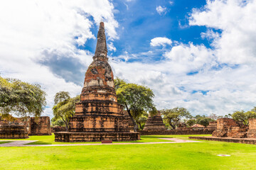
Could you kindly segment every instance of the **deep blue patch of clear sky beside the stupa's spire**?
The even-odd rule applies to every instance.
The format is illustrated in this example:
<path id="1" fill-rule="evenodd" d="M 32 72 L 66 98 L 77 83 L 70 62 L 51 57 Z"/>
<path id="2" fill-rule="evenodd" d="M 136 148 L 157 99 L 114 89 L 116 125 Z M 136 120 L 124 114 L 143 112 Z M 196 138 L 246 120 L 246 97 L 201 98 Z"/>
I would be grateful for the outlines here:
<path id="1" fill-rule="evenodd" d="M 156 37 L 166 37 L 183 43 L 193 42 L 195 45 L 203 43 L 210 47 L 208 40 L 201 38 L 201 33 L 206 31 L 205 26 L 188 26 L 192 8 L 202 8 L 206 1 L 113 1 L 113 4 L 117 10 L 114 18 L 119 23 L 119 39 L 113 42 L 117 50 L 109 52 L 113 57 L 124 52 L 148 51 L 151 48 L 150 40 Z M 156 6 L 163 6 L 166 11 L 159 14 Z M 97 28 L 97 24 L 92 28 L 95 36 Z M 93 51 L 95 46 L 95 40 L 88 40 L 84 49 Z"/>

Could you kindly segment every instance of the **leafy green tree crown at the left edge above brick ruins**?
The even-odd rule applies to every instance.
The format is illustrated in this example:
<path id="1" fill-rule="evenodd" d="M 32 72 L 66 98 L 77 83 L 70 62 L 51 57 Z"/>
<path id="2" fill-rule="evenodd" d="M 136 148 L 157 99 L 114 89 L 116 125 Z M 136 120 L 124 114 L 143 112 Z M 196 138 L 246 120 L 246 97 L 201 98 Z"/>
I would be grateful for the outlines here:
<path id="1" fill-rule="evenodd" d="M 0 113 L 40 116 L 46 107 L 46 92 L 39 84 L 0 77 Z"/>

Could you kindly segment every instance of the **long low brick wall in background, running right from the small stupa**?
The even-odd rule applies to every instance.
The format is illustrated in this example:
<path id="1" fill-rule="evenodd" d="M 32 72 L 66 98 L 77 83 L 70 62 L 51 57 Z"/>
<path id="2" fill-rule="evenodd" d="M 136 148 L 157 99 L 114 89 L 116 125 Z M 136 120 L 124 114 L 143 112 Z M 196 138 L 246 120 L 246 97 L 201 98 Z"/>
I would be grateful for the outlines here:
<path id="1" fill-rule="evenodd" d="M 159 130 L 159 131 L 146 131 L 140 130 L 141 135 L 206 135 L 212 134 L 213 130 Z"/>

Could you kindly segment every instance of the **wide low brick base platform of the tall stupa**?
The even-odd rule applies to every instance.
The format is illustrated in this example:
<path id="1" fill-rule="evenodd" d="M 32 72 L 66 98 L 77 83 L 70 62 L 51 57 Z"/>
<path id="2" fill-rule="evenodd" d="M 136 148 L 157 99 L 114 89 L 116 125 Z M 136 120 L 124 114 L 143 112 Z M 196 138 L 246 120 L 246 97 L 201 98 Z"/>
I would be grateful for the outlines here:
<path id="1" fill-rule="evenodd" d="M 55 132 L 55 142 L 101 142 L 140 140 L 139 132 Z"/>

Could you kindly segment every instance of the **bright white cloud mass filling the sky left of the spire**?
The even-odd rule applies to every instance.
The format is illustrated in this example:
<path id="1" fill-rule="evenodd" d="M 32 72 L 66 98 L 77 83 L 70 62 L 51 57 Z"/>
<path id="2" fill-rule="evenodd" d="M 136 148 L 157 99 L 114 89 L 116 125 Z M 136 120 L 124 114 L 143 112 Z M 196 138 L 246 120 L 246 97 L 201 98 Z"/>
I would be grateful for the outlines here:
<path id="1" fill-rule="evenodd" d="M 65 58 L 77 60 L 85 72 L 92 62 L 92 54 L 79 50 L 88 39 L 95 39 L 91 28 L 105 22 L 109 40 L 118 38 L 114 20 L 114 6 L 110 1 L 4 1 L 0 6 L 0 73 L 41 84 L 47 92 L 48 108 L 43 113 L 51 115 L 53 96 L 58 91 L 80 94 L 82 84 L 74 84 L 60 75 L 72 77 L 73 72 L 61 68 L 61 74 L 51 72 L 50 67 L 39 64 L 50 55 L 56 61 Z M 90 21 L 89 18 L 93 18 Z M 46 53 L 48 52 L 48 53 Z M 48 54 L 49 56 L 46 56 Z M 66 67 L 69 67 L 68 64 Z M 60 66 L 59 66 L 60 67 Z"/>

